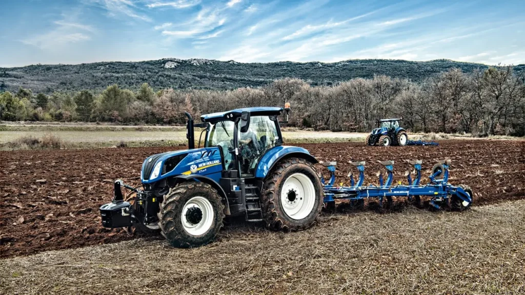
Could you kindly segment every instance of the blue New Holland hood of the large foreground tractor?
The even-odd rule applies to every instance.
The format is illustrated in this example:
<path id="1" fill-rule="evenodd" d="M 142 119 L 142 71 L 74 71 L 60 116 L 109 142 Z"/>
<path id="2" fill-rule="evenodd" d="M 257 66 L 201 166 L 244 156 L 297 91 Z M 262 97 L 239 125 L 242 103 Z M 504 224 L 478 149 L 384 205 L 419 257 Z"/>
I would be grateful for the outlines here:
<path id="1" fill-rule="evenodd" d="M 142 164 L 142 183 L 153 183 L 176 175 L 206 175 L 222 171 L 219 148 L 181 150 L 152 155 Z"/>

